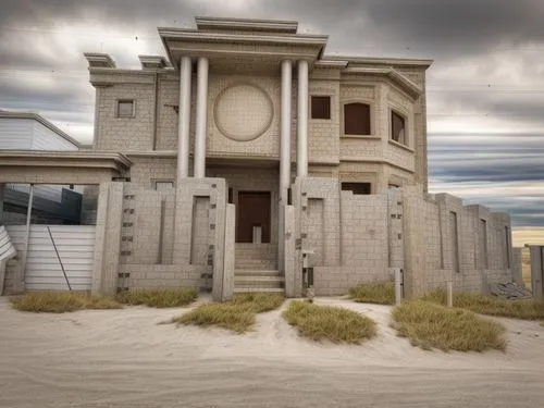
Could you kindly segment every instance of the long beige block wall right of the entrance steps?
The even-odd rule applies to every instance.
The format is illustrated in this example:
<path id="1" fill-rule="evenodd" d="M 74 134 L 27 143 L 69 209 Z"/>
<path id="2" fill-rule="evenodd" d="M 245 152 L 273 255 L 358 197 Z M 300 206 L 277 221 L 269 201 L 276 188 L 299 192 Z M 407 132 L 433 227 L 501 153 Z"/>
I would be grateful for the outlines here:
<path id="1" fill-rule="evenodd" d="M 518 260 L 511 252 L 507 214 L 465 207 L 447 194 L 426 195 L 421 187 L 359 196 L 341 191 L 331 178 L 306 178 L 297 180 L 294 194 L 300 213 L 295 274 L 300 271 L 300 276 L 289 283 L 292 293 L 304 292 L 301 252 L 308 249 L 314 252 L 308 264 L 318 295 L 390 281 L 395 268 L 404 270 L 408 297 L 445 288 L 449 281 L 458 292 L 486 293 L 490 284 L 512 279 Z M 475 243 L 481 242 L 483 220 L 485 248 L 480 248 Z M 482 254 L 489 263 L 482 263 Z"/>

